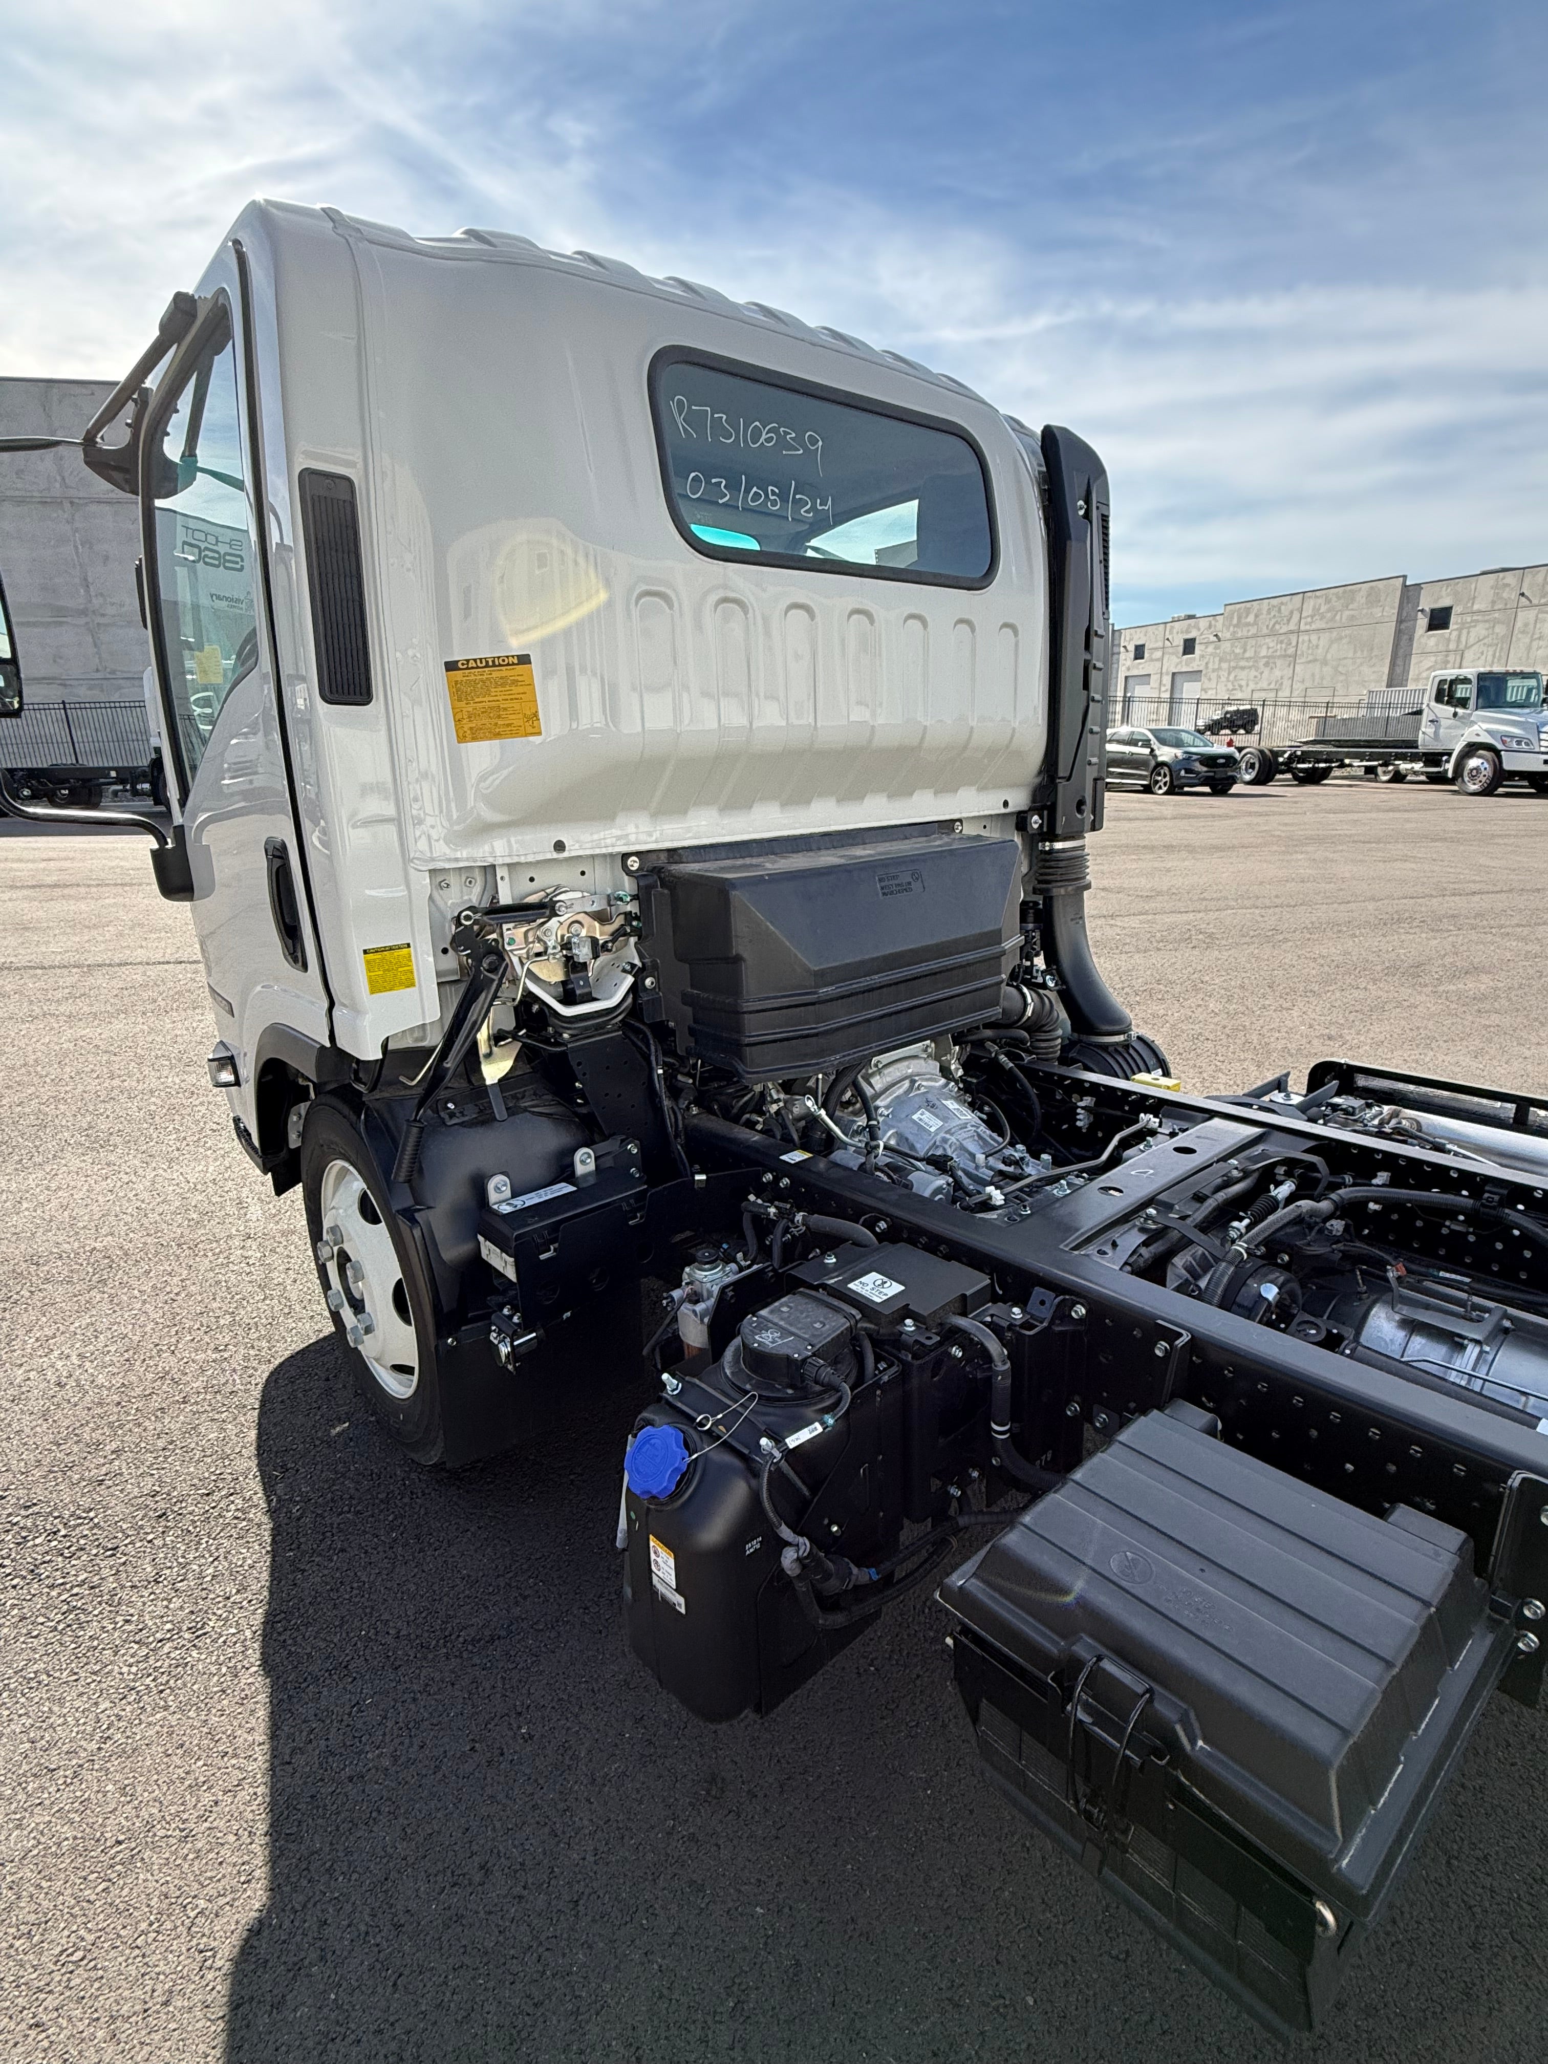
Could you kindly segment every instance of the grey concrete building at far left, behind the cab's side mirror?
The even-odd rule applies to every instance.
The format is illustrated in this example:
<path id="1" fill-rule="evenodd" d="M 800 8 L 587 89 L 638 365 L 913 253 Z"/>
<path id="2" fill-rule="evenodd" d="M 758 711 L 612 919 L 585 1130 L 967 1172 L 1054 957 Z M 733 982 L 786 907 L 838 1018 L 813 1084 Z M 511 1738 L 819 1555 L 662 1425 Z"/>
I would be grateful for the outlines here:
<path id="1" fill-rule="evenodd" d="M 0 378 L 0 436 L 78 438 L 109 380 Z M 80 452 L 0 452 L 0 584 L 29 704 L 142 702 L 147 667 L 130 495 Z"/>

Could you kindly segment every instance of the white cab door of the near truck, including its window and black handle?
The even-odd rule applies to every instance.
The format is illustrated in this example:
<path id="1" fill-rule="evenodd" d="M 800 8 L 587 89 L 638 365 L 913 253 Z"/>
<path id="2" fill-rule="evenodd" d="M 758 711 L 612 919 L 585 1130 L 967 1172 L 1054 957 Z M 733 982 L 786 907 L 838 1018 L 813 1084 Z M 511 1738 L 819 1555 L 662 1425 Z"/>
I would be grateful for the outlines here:
<path id="1" fill-rule="evenodd" d="M 192 916 L 217 1026 L 254 1123 L 256 1042 L 283 1024 L 328 1038 L 291 809 L 252 483 L 235 268 L 155 392 L 140 460 L 151 648 Z"/>

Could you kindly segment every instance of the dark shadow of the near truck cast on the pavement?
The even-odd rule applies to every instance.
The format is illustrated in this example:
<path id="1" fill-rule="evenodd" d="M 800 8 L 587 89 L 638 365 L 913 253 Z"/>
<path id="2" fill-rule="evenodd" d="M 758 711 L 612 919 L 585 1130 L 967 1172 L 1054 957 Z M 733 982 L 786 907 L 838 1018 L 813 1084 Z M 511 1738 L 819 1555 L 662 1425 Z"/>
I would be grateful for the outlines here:
<path id="1" fill-rule="evenodd" d="M 1282 2058 L 980 1781 L 929 1598 L 766 1721 L 646 1678 L 611 1546 L 642 1397 L 578 1377 L 524 1451 L 436 1476 L 332 1337 L 268 1377 L 268 1905 L 231 2064 Z M 1496 1701 L 1302 2056 L 1540 2054 L 1546 1856 L 1542 1723 Z"/>

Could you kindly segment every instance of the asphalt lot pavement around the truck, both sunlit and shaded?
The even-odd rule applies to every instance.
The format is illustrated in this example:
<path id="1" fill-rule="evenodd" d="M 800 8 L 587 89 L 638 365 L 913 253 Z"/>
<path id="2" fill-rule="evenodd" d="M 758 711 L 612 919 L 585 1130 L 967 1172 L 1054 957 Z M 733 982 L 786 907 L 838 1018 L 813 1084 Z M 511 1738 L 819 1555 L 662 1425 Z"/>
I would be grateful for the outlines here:
<path id="1" fill-rule="evenodd" d="M 1191 1088 L 1548 1090 L 1548 803 L 1115 797 L 1108 980 Z M 144 846 L 0 842 L 0 2054 L 1269 2060 L 978 1777 L 914 1598 L 766 1721 L 627 1651 L 634 1397 L 390 1451 L 204 1077 Z M 1480 1726 L 1304 2058 L 1538 2058 L 1544 1717 Z"/>

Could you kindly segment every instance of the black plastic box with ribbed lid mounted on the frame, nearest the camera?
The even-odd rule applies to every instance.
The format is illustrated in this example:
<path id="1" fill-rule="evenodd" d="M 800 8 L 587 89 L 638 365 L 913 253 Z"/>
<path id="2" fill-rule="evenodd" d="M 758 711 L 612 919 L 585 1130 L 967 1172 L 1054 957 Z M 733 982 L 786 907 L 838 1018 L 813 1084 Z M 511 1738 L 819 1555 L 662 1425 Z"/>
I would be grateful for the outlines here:
<path id="1" fill-rule="evenodd" d="M 1311 2029 L 1511 1657 L 1472 1542 L 1150 1412 L 941 1587 L 989 1775 Z"/>

